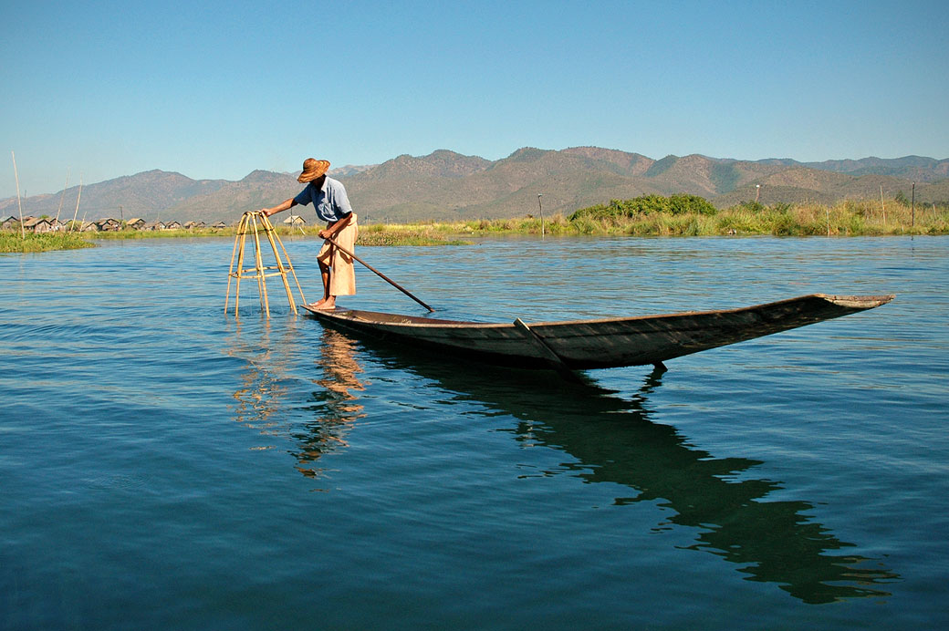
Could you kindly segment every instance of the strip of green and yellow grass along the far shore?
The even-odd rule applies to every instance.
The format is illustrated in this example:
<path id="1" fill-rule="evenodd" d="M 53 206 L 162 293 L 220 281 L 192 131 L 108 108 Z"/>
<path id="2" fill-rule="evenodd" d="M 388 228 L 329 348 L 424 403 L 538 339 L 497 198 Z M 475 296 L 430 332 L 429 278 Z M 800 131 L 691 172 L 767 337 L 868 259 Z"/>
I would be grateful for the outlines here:
<path id="1" fill-rule="evenodd" d="M 628 203 L 615 200 L 609 205 L 581 209 L 569 217 L 555 214 L 545 218 L 544 232 L 550 235 L 590 236 L 886 236 L 908 234 L 949 234 L 949 207 L 918 206 L 913 210 L 897 200 L 883 205 L 875 201 L 844 201 L 833 206 L 823 204 L 773 204 L 764 206 L 746 202 L 710 213 L 696 211 L 646 210 L 631 212 Z M 316 236 L 320 226 L 300 229 L 276 227 L 281 238 L 294 235 Z M 541 220 L 527 216 L 519 219 L 481 219 L 455 223 L 368 224 L 360 226 L 360 246 L 435 246 L 465 245 L 464 236 L 500 234 L 540 234 Z M 0 252 L 69 250 L 88 248 L 88 239 L 152 239 L 219 236 L 233 237 L 236 228 L 176 231 L 76 232 L 28 234 L 0 232 Z"/>

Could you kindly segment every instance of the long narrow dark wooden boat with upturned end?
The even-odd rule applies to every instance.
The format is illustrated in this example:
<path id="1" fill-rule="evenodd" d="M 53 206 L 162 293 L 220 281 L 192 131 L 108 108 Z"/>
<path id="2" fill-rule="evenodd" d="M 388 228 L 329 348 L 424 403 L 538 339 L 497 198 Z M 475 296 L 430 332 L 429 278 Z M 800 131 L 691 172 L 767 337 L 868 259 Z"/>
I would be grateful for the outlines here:
<path id="1" fill-rule="evenodd" d="M 655 364 L 884 305 L 892 295 L 800 296 L 765 305 L 633 318 L 482 324 L 419 316 L 313 309 L 327 325 L 383 340 L 523 368 L 560 371 Z"/>

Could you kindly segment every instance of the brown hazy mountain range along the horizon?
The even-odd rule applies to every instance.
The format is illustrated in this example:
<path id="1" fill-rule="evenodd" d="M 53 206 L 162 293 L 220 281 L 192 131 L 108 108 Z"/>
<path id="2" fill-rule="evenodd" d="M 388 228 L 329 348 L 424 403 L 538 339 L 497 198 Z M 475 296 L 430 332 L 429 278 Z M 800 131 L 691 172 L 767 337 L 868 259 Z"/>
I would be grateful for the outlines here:
<path id="1" fill-rule="evenodd" d="M 916 182 L 921 203 L 949 200 L 949 159 L 863 158 L 798 162 L 790 158 L 738 160 L 706 156 L 647 158 L 600 147 L 518 149 L 488 160 L 438 150 L 377 165 L 334 169 L 353 208 L 366 222 L 452 221 L 573 211 L 638 195 L 686 193 L 720 208 L 758 195 L 764 204 L 879 198 Z M 97 184 L 70 187 L 23 200 L 24 214 L 61 219 L 141 217 L 179 221 L 235 222 L 255 210 L 296 195 L 296 174 L 253 171 L 238 181 L 195 180 L 179 173 L 147 171 Z M 538 195 L 542 195 L 538 197 Z M 76 212 L 77 196 L 79 211 Z M 0 216 L 17 213 L 16 198 L 0 200 Z M 312 209 L 301 214 L 310 221 Z"/>

